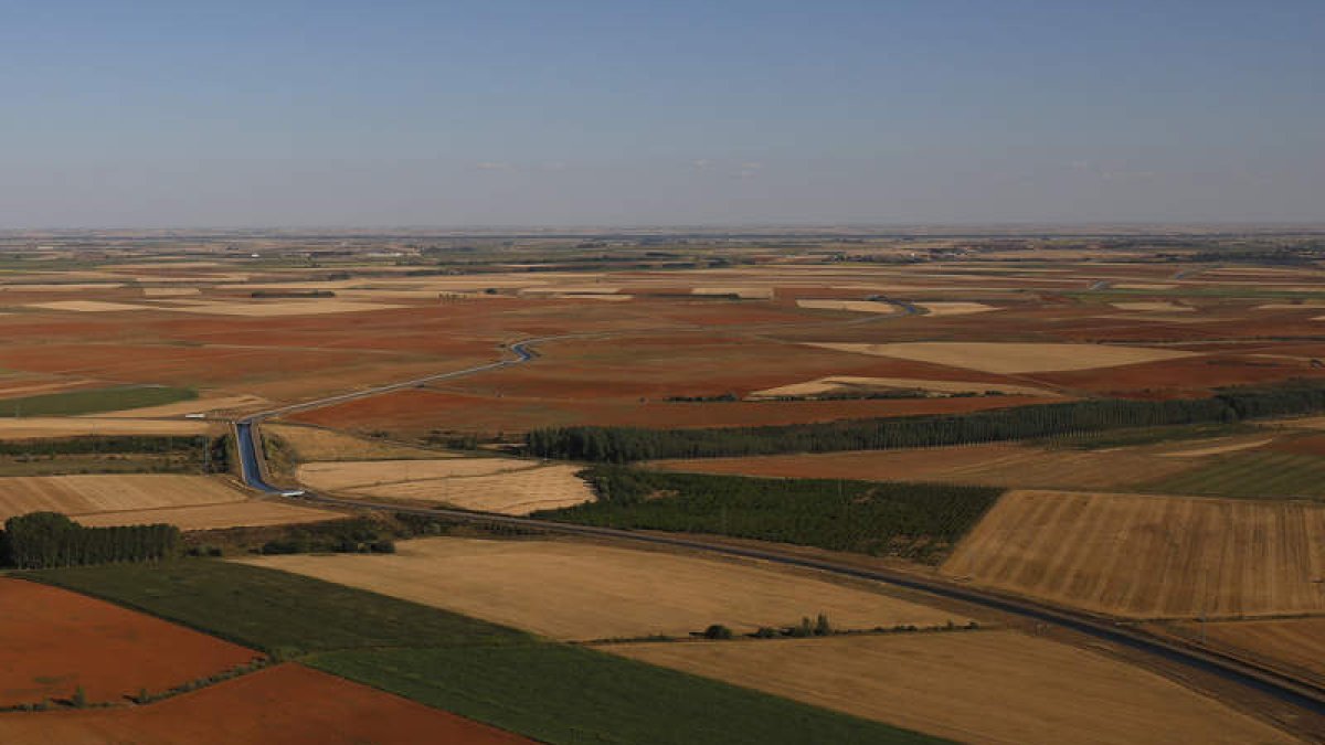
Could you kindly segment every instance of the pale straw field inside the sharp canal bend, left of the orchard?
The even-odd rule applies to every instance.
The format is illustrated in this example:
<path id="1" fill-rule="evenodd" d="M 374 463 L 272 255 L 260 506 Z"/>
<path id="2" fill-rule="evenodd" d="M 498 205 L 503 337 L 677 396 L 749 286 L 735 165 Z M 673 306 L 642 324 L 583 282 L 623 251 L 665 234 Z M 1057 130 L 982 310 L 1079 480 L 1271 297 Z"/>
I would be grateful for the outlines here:
<path id="1" fill-rule="evenodd" d="M 578 465 L 504 457 L 310 463 L 295 477 L 315 490 L 529 514 L 594 500 Z"/>

